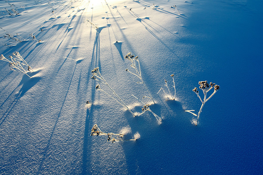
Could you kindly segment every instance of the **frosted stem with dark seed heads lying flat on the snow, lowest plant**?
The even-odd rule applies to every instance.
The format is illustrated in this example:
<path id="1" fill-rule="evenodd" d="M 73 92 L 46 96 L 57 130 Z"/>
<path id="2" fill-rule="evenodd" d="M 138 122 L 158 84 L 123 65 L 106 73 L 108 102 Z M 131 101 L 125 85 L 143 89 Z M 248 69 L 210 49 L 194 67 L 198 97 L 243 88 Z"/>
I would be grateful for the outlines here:
<path id="1" fill-rule="evenodd" d="M 99 129 L 98 125 L 95 124 L 93 125 L 92 129 L 91 129 L 91 133 L 90 133 L 91 136 L 103 136 L 103 135 L 107 135 L 107 141 L 111 141 L 112 143 L 116 142 L 116 141 L 128 141 L 128 140 L 136 140 L 136 139 L 127 139 L 127 140 L 124 140 L 122 139 L 124 134 L 120 133 L 120 134 L 114 134 L 112 132 L 110 133 L 105 133 L 105 132 L 101 132 L 101 129 Z M 116 139 L 113 137 L 113 136 L 117 136 Z"/>

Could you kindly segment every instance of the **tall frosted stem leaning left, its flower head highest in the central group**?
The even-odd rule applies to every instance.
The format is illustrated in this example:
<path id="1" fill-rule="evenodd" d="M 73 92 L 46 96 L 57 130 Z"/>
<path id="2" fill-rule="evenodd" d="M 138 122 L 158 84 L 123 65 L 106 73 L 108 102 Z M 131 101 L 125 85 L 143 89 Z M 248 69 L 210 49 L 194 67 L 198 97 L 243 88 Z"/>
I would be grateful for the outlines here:
<path id="1" fill-rule="evenodd" d="M 143 96 L 144 97 L 148 97 L 150 99 L 153 100 L 153 97 L 150 93 L 150 91 L 148 90 L 148 88 L 146 87 L 146 84 L 144 83 L 143 79 L 142 79 L 142 76 L 141 76 L 141 66 L 140 66 L 140 61 L 139 61 L 139 58 L 138 56 L 134 57 L 134 55 L 131 55 L 131 52 L 128 53 L 126 56 L 125 56 L 125 59 L 129 60 L 131 62 L 131 67 L 133 69 L 135 69 L 135 73 L 129 71 L 129 69 L 125 69 L 126 72 L 129 72 L 131 74 L 133 74 L 134 76 L 138 77 L 140 79 L 140 81 L 137 82 L 137 84 L 143 84 L 144 87 L 146 88 L 146 90 L 148 91 L 150 97 L 148 96 Z M 136 62 L 138 64 L 138 66 L 136 66 Z M 139 70 L 138 70 L 138 67 L 139 67 Z M 153 103 L 155 104 L 154 100 L 153 100 Z"/>

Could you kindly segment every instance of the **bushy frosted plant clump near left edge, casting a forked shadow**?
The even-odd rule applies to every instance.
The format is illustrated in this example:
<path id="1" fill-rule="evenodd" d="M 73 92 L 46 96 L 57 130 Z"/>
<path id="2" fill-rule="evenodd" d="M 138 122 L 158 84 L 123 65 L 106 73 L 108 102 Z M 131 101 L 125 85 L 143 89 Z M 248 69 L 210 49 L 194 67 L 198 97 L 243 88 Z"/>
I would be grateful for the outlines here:
<path id="1" fill-rule="evenodd" d="M 27 72 L 30 71 L 30 69 L 33 71 L 33 69 L 27 64 L 27 62 L 23 59 L 23 57 L 19 54 L 19 52 L 14 52 L 13 56 L 14 57 L 9 56 L 10 60 L 8 60 L 2 54 L 2 55 L 0 55 L 0 60 L 8 62 L 9 66 L 11 67 L 10 70 L 22 72 L 26 75 L 27 75 Z M 27 75 L 27 76 L 29 76 L 29 75 Z"/>

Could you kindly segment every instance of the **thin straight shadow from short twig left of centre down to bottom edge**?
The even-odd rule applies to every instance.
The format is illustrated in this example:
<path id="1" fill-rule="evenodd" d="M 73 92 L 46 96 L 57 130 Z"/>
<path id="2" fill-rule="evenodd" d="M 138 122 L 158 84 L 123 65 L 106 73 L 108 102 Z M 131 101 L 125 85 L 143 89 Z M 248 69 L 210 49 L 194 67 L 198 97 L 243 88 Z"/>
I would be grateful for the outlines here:
<path id="1" fill-rule="evenodd" d="M 49 146 L 50 146 L 50 143 L 51 143 L 53 134 L 54 134 L 54 132 L 55 132 L 55 129 L 56 129 L 56 127 L 57 127 L 58 119 L 59 119 L 59 117 L 60 117 L 60 115 L 61 115 L 63 106 L 64 106 L 64 104 L 65 104 L 65 101 L 66 101 L 66 98 L 67 98 L 67 95 L 68 95 L 68 92 L 69 92 L 69 89 L 70 89 L 70 85 L 71 85 L 71 82 L 72 82 L 72 79 L 73 79 L 73 76 L 74 76 L 76 67 L 77 67 L 77 64 L 76 64 L 76 66 L 75 66 L 75 68 L 74 68 L 74 71 L 73 71 L 73 73 L 72 73 L 72 77 L 71 77 L 71 79 L 70 79 L 70 83 L 69 83 L 69 86 L 68 86 L 68 90 L 67 90 L 67 92 L 66 92 L 66 94 L 65 94 L 65 98 L 64 98 L 64 100 L 63 100 L 63 102 L 62 102 L 61 108 L 60 108 L 60 110 L 59 110 L 59 112 L 58 112 L 58 115 L 57 115 L 57 117 L 56 117 L 56 122 L 55 122 L 55 124 L 54 124 L 53 129 L 52 129 L 51 132 L 50 132 L 49 139 L 48 139 L 47 144 L 46 144 L 46 148 L 43 148 L 43 152 L 42 152 L 42 157 L 43 157 L 43 158 L 41 159 L 41 162 L 40 162 L 40 164 L 39 164 L 39 166 L 38 166 L 38 170 L 37 170 L 37 173 L 36 173 L 36 174 L 40 174 L 40 173 L 42 172 L 42 168 L 43 168 L 42 166 L 43 166 L 44 160 L 46 159 L 46 156 L 48 155 Z"/>

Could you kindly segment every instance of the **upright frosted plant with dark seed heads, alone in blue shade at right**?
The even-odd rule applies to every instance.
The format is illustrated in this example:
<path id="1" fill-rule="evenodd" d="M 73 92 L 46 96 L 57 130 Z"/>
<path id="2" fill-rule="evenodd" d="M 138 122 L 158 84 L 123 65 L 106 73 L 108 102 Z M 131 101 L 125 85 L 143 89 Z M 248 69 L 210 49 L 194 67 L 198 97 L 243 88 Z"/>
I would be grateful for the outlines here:
<path id="1" fill-rule="evenodd" d="M 209 84 L 207 83 L 207 81 L 199 81 L 198 83 L 200 86 L 199 88 L 203 91 L 203 94 L 204 94 L 204 99 L 202 100 L 200 95 L 199 95 L 199 92 L 197 90 L 197 88 L 194 88 L 193 89 L 193 92 L 195 92 L 195 94 L 197 95 L 197 97 L 200 99 L 200 101 L 202 102 L 202 105 L 200 107 L 200 110 L 198 112 L 198 115 L 196 115 L 195 113 L 191 112 L 191 111 L 194 111 L 194 110 L 186 110 L 186 112 L 189 112 L 191 114 L 193 114 L 194 116 L 197 117 L 197 120 L 196 120 L 196 123 L 195 123 L 195 126 L 198 124 L 198 119 L 200 117 L 200 113 L 202 112 L 202 109 L 205 105 L 205 103 L 211 98 L 213 97 L 213 95 L 217 92 L 217 90 L 220 89 L 220 86 L 219 85 L 215 85 L 215 83 L 212 83 L 210 82 Z M 214 92 L 207 98 L 207 92 L 209 92 L 211 89 L 214 88 Z"/>

